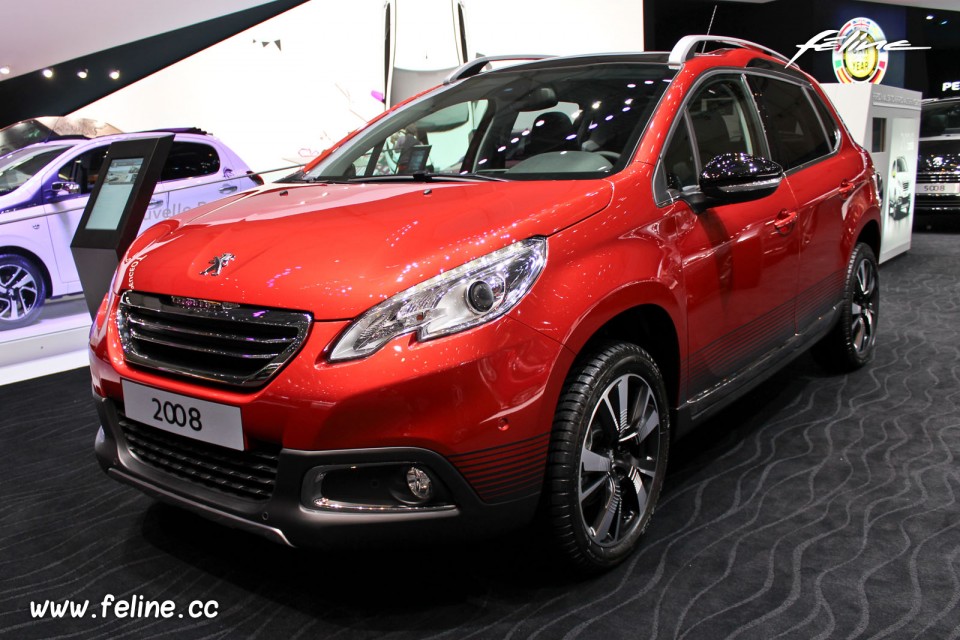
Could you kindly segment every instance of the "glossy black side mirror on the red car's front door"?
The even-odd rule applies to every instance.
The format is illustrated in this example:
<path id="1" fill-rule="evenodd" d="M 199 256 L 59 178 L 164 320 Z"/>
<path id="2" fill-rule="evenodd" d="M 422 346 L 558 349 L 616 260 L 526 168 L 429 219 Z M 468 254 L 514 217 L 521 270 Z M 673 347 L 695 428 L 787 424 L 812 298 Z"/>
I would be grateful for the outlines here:
<path id="1" fill-rule="evenodd" d="M 700 173 L 700 194 L 690 204 L 695 211 L 712 206 L 759 200 L 771 195 L 783 180 L 783 167 L 747 153 L 721 153 Z"/>

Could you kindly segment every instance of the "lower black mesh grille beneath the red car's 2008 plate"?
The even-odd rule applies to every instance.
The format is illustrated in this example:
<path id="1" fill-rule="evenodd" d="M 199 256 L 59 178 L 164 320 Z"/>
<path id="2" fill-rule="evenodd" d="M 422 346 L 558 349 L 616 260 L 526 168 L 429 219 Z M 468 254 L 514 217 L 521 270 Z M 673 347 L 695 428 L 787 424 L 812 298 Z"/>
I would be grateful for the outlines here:
<path id="1" fill-rule="evenodd" d="M 144 464 L 195 484 L 251 500 L 267 500 L 277 480 L 280 447 L 233 451 L 197 442 L 120 414 L 127 449 Z"/>

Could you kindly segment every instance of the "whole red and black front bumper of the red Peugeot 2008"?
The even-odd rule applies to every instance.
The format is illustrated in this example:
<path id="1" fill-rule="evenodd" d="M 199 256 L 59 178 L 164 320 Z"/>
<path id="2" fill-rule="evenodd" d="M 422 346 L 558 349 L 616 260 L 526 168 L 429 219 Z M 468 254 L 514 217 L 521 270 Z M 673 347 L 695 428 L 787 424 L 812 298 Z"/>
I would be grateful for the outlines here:
<path id="1" fill-rule="evenodd" d="M 427 530 L 486 535 L 532 518 L 573 356 L 524 323 L 506 316 L 424 343 L 405 336 L 367 358 L 331 364 L 324 350 L 344 323 L 314 322 L 275 378 L 238 390 L 131 366 L 108 321 L 116 313 L 111 298 L 94 323 L 90 366 L 102 425 L 97 456 L 115 479 L 295 546 L 356 545 Z M 189 473 L 178 467 L 176 446 L 170 455 L 161 452 L 161 464 L 151 460 L 155 451 L 135 450 L 137 438 L 159 436 L 147 425 L 130 433 L 124 380 L 239 408 L 247 452 L 268 449 L 276 467 L 270 491 L 238 496 L 208 486 L 202 465 Z M 230 455 L 218 449 L 210 456 Z M 450 508 L 335 510 L 314 508 L 301 495 L 317 467 L 386 463 L 428 467 L 449 493 Z"/>

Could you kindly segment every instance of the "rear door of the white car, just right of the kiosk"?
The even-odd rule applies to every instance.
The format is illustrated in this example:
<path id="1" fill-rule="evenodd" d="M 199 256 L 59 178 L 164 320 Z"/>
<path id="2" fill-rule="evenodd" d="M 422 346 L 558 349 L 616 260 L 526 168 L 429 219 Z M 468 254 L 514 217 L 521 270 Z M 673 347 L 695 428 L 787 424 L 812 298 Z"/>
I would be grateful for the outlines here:
<path id="1" fill-rule="evenodd" d="M 176 215 L 249 185 L 246 175 L 235 175 L 234 168 L 224 166 L 213 145 L 175 140 L 160 174 L 157 192 L 168 194 L 170 215 Z"/>

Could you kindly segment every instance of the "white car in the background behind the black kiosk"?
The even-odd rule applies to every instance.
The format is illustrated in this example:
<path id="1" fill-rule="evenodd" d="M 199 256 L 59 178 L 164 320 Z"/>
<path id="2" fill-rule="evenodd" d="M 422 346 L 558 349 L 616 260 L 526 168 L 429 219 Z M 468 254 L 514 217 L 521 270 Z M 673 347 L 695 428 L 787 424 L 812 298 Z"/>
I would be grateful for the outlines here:
<path id="1" fill-rule="evenodd" d="M 140 231 L 263 184 L 223 142 L 171 129 L 173 146 Z M 70 243 L 111 143 L 156 135 L 61 139 L 0 157 L 0 330 L 30 324 L 47 299 L 80 293 Z"/>

